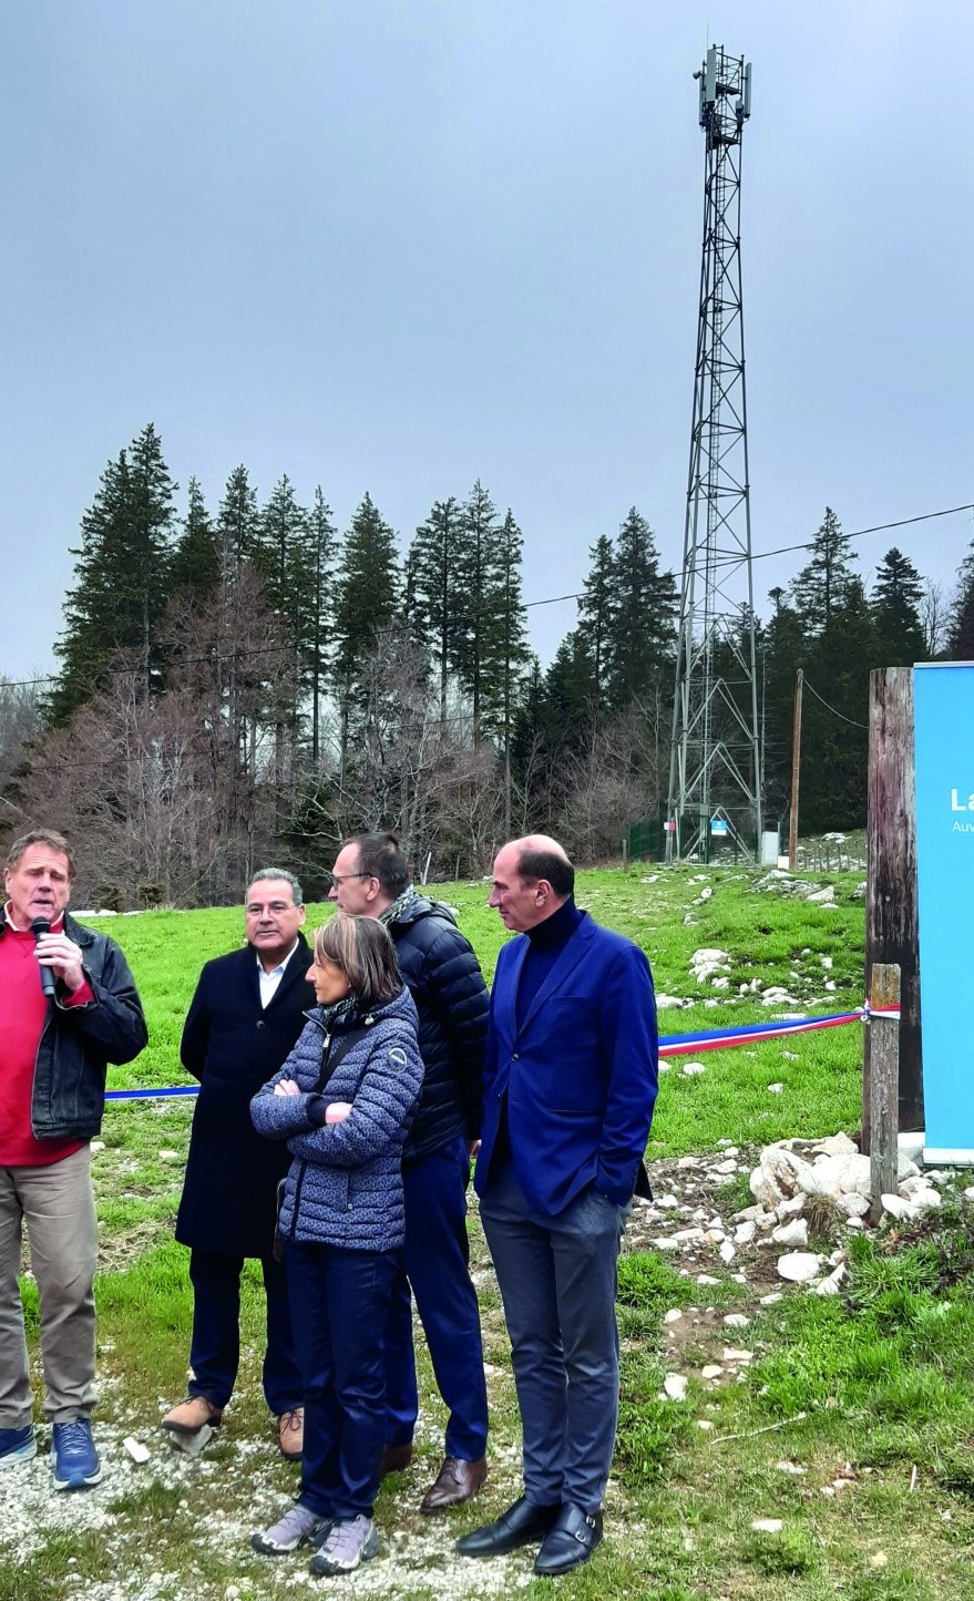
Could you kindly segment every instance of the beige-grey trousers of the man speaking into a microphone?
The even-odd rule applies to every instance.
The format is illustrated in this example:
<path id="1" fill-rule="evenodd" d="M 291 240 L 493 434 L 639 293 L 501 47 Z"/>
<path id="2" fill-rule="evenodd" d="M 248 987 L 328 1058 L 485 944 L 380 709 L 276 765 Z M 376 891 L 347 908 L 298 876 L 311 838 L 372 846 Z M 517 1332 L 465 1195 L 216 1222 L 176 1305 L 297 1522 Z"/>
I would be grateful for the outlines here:
<path id="1" fill-rule="evenodd" d="M 24 1222 L 40 1297 L 45 1412 L 67 1423 L 88 1417 L 96 1401 L 98 1226 L 87 1145 L 48 1167 L 0 1167 L 0 1428 L 24 1428 L 34 1406 L 18 1282 Z"/>

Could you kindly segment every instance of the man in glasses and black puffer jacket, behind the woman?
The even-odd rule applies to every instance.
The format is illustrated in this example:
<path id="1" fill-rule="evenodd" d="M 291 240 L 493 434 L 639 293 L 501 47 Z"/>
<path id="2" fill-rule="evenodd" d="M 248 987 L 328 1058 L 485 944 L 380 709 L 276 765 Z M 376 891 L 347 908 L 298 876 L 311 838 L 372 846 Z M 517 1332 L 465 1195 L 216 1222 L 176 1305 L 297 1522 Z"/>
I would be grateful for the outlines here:
<path id="1" fill-rule="evenodd" d="M 386 924 L 420 1013 L 426 1073 L 402 1158 L 405 1246 L 386 1327 L 383 1470 L 405 1468 L 412 1459 L 418 1412 L 412 1290 L 450 1414 L 444 1462 L 420 1507 L 441 1511 L 469 1500 L 487 1476 L 484 1348 L 466 1239 L 469 1158 L 481 1138 L 487 986 L 452 911 L 412 889 L 392 834 L 354 834 L 343 844 L 330 898 L 349 917 Z"/>

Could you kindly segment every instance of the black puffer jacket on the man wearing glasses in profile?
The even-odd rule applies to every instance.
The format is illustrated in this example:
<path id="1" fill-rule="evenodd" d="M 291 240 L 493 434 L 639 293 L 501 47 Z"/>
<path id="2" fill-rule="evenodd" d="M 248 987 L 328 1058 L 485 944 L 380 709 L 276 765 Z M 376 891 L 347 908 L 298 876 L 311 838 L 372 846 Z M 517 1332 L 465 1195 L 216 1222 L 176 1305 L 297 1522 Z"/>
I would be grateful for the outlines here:
<path id="1" fill-rule="evenodd" d="M 413 895 L 388 929 L 420 1013 L 420 1055 L 426 1068 L 404 1150 L 409 1164 L 439 1151 L 458 1134 L 481 1138 L 490 997 L 481 964 L 449 906 Z"/>

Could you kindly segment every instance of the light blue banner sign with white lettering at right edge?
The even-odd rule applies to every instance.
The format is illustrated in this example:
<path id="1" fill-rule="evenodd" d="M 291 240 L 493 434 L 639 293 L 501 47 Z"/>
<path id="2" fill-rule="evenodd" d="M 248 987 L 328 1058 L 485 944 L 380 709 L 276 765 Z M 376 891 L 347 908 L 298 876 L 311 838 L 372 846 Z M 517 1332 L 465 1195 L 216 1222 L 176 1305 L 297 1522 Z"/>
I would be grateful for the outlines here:
<path id="1" fill-rule="evenodd" d="M 928 1162 L 974 1164 L 964 1021 L 974 924 L 974 663 L 915 668 L 920 1015 Z"/>

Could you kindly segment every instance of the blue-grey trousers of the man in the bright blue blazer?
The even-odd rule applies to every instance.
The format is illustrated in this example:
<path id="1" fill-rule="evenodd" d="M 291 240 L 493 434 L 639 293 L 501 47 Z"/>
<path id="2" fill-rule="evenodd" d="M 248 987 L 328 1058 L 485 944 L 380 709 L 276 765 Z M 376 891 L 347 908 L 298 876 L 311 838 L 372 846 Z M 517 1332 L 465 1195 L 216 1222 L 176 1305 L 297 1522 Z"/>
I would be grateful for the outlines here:
<path id="1" fill-rule="evenodd" d="M 511 1338 L 524 1494 L 598 1511 L 618 1422 L 617 1262 L 628 1207 L 583 1191 L 532 1214 L 513 1166 L 481 1201 Z"/>

